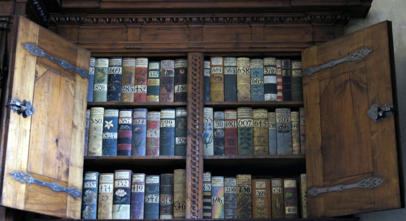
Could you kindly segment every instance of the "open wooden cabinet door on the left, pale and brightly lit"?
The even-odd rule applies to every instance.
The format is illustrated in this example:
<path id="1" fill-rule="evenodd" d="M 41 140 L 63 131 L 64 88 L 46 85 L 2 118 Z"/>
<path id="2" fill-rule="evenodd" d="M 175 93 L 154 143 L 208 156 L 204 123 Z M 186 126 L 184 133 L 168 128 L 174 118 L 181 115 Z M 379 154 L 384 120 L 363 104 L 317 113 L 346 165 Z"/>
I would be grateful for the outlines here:
<path id="1" fill-rule="evenodd" d="M 6 113 L 1 205 L 80 218 L 90 52 L 24 17 L 16 21 L 8 99 L 30 101 L 35 112 Z M 31 54 L 26 47 L 33 46 L 25 43 L 65 67 L 84 68 L 84 78 L 49 56 Z"/>

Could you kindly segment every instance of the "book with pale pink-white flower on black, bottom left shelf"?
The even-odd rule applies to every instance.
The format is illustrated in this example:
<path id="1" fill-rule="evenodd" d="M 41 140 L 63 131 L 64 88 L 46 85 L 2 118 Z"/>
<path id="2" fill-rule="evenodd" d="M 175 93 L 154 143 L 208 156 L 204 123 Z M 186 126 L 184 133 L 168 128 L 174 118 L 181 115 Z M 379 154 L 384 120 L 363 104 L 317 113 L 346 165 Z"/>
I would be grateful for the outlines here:
<path id="1" fill-rule="evenodd" d="M 131 170 L 114 170 L 113 219 L 130 219 L 131 177 Z"/>

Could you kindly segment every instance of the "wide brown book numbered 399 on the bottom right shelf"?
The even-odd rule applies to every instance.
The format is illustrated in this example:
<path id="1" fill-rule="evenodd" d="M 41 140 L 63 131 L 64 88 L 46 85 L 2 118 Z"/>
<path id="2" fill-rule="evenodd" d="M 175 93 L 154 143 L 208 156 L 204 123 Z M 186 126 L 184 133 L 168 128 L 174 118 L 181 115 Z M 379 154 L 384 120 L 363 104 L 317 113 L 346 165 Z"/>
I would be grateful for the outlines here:
<path id="1" fill-rule="evenodd" d="M 271 187 L 268 179 L 252 180 L 253 219 L 271 218 Z"/>

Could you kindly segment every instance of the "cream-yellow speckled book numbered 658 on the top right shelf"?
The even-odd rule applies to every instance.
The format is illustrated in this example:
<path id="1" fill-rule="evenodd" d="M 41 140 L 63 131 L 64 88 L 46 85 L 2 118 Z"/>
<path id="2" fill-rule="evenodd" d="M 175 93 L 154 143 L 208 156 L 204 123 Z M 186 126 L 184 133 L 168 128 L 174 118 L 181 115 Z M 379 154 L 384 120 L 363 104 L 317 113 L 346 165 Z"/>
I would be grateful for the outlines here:
<path id="1" fill-rule="evenodd" d="M 237 101 L 251 101 L 250 58 L 237 58 Z"/>

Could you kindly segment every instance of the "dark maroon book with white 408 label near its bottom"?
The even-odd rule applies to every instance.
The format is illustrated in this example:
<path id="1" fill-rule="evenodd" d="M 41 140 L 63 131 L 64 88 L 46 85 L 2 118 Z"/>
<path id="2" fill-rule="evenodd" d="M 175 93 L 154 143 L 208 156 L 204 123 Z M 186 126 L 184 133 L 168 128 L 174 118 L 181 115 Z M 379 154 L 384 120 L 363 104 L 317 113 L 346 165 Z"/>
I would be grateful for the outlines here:
<path id="1" fill-rule="evenodd" d="M 285 199 L 285 218 L 299 218 L 296 179 L 283 179 L 283 193 Z"/>

